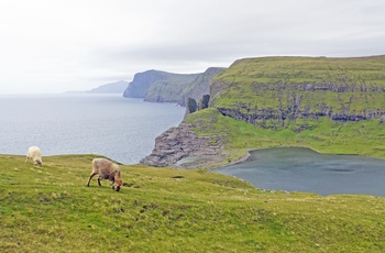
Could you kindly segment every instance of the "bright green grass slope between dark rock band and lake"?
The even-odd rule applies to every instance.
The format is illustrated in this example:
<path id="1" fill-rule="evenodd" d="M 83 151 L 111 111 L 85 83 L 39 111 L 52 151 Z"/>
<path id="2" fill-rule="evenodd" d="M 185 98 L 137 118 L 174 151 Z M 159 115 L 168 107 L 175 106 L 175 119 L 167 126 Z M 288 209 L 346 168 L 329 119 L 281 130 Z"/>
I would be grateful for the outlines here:
<path id="1" fill-rule="evenodd" d="M 223 117 L 216 108 L 209 108 L 189 114 L 187 121 L 193 123 L 196 134 L 211 136 L 212 142 L 221 142 L 224 146 L 223 163 L 217 165 L 241 158 L 246 150 L 276 146 L 302 146 L 321 153 L 385 158 L 385 125 L 376 120 L 343 123 L 320 118 L 268 129 Z M 297 132 L 302 125 L 307 130 Z"/>

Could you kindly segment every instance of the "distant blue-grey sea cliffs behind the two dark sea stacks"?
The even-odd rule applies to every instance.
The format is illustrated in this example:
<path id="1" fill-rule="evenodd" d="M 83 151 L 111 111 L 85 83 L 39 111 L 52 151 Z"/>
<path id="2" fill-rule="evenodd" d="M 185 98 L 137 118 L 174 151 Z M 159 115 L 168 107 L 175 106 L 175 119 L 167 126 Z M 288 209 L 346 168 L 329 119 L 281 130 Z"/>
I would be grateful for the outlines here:
<path id="1" fill-rule="evenodd" d="M 124 90 L 123 97 L 186 106 L 188 98 L 199 101 L 204 95 L 208 95 L 211 79 L 224 69 L 210 67 L 198 74 L 174 74 L 154 69 L 138 73 Z"/>

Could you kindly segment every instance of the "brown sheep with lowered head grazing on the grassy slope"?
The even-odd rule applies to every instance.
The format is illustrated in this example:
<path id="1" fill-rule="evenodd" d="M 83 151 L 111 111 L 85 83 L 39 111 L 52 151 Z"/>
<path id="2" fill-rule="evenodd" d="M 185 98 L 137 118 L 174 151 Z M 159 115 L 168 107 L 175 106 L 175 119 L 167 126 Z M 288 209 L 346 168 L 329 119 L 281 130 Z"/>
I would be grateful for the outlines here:
<path id="1" fill-rule="evenodd" d="M 98 177 L 98 184 L 100 184 L 100 179 L 109 179 L 112 182 L 112 189 L 116 189 L 117 191 L 120 190 L 120 187 L 123 185 L 120 168 L 118 164 L 112 163 L 111 161 L 105 160 L 105 158 L 95 158 L 92 160 L 92 172 L 91 175 L 89 175 L 88 184 L 91 180 L 91 178 L 99 174 Z"/>

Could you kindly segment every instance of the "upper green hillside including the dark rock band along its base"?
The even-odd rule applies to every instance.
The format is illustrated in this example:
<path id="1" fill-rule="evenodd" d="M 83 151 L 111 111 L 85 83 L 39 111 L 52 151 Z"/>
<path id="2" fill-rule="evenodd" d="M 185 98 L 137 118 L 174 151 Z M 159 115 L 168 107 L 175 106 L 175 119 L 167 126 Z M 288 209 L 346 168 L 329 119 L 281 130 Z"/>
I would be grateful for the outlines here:
<path id="1" fill-rule="evenodd" d="M 239 73 L 239 74 L 238 74 Z M 385 114 L 385 57 L 271 57 L 235 62 L 216 79 L 211 106 L 264 125 L 299 119 L 374 120 Z"/>

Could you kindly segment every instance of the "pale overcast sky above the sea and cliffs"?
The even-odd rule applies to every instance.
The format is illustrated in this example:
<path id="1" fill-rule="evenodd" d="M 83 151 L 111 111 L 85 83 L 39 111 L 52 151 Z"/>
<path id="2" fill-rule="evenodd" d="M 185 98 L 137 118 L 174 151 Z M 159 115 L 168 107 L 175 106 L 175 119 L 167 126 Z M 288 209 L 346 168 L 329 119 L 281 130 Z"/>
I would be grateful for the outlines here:
<path id="1" fill-rule="evenodd" d="M 385 54 L 384 0 L 2 0 L 0 94 L 87 90 L 147 69 Z"/>

